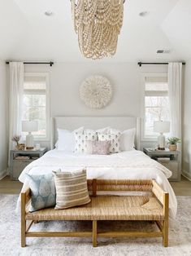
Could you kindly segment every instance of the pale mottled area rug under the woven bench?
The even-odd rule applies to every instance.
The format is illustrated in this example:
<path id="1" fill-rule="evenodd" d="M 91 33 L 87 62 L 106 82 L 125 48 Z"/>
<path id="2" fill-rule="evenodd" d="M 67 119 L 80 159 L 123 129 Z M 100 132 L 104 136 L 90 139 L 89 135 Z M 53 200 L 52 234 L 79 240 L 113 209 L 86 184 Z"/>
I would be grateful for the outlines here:
<path id="1" fill-rule="evenodd" d="M 90 238 L 28 238 L 27 246 L 20 247 L 20 218 L 15 214 L 18 196 L 0 195 L 0 255 L 54 255 L 54 256 L 191 256 L 191 196 L 177 196 L 178 214 L 170 222 L 169 247 L 164 248 L 162 238 L 102 238 L 98 247 L 93 248 Z M 154 224 L 145 222 L 99 222 L 104 230 L 154 229 Z M 90 222 L 41 222 L 33 230 L 89 231 Z"/>

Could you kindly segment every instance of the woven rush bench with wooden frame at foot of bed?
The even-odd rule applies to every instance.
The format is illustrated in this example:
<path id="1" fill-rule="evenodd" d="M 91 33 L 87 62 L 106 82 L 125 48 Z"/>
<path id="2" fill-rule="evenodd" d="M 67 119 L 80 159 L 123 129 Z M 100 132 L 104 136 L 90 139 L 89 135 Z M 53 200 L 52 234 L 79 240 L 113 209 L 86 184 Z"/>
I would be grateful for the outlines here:
<path id="1" fill-rule="evenodd" d="M 48 208 L 33 213 L 27 211 L 30 189 L 21 193 L 21 246 L 26 237 L 92 237 L 97 246 L 98 237 L 145 236 L 163 237 L 163 246 L 168 245 L 168 193 L 154 180 L 88 180 L 91 202 L 66 210 Z M 149 196 L 98 196 L 99 191 L 148 192 Z M 81 220 L 92 221 L 92 232 L 30 232 L 37 221 Z M 157 232 L 98 232 L 99 220 L 152 221 Z"/>

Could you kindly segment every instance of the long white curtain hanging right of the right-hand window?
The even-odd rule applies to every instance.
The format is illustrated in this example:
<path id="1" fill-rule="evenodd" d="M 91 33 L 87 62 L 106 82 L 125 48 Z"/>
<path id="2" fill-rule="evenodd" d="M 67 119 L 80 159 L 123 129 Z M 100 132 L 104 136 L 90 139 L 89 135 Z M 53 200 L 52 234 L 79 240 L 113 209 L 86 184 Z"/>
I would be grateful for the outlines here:
<path id="1" fill-rule="evenodd" d="M 168 86 L 171 110 L 171 136 L 181 139 L 181 95 L 182 95 L 182 64 L 168 64 Z"/>

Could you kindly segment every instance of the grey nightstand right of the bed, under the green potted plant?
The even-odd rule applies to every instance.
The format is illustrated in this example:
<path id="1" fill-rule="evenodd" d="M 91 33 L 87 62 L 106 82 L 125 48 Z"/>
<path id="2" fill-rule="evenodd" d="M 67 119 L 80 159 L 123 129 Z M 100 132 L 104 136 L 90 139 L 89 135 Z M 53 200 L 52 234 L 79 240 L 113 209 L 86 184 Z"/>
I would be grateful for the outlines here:
<path id="1" fill-rule="evenodd" d="M 168 148 L 165 150 L 157 150 L 154 148 L 143 148 L 143 152 L 150 158 L 158 161 L 167 169 L 171 170 L 172 175 L 169 181 L 180 181 L 181 179 L 181 166 L 180 166 L 180 151 L 170 151 Z"/>

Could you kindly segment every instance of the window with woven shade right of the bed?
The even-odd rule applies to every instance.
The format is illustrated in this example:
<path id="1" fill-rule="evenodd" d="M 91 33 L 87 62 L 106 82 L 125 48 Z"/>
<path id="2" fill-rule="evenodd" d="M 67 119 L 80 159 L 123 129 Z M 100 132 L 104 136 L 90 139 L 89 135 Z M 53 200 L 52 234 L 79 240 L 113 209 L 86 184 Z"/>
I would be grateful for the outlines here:
<path id="1" fill-rule="evenodd" d="M 142 137 L 154 139 L 158 136 L 158 134 L 154 132 L 154 121 L 170 121 L 167 75 L 145 76 L 144 90 L 145 100 Z"/>

